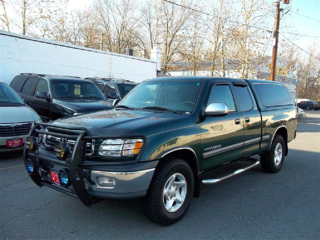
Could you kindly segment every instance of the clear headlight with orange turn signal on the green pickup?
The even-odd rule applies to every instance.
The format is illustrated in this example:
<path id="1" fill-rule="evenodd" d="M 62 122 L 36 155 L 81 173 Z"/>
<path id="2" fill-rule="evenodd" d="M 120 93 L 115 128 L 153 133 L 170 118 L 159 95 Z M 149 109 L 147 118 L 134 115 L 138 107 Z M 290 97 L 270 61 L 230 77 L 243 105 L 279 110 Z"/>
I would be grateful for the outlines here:
<path id="1" fill-rule="evenodd" d="M 106 139 L 101 142 L 98 154 L 102 156 L 136 155 L 140 152 L 143 143 L 142 138 Z"/>

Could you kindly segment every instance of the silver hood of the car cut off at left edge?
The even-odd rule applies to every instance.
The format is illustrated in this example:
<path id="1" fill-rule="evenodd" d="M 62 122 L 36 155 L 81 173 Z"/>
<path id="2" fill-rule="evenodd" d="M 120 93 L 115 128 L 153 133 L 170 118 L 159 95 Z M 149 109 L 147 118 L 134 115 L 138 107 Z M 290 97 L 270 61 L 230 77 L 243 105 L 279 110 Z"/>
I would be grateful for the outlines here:
<path id="1" fill-rule="evenodd" d="M 40 117 L 28 106 L 0 107 L 0 123 L 32 122 L 35 120 L 40 120 Z"/>

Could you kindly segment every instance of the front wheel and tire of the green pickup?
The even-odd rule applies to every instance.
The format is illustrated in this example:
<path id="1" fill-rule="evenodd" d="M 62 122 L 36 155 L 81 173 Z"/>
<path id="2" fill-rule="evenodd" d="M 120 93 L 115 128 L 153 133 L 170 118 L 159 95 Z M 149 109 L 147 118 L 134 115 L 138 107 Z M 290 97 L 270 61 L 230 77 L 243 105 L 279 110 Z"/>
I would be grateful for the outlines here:
<path id="1" fill-rule="evenodd" d="M 193 173 L 182 159 L 166 157 L 156 167 L 141 206 L 148 219 L 161 225 L 179 220 L 189 207 L 194 188 Z"/>

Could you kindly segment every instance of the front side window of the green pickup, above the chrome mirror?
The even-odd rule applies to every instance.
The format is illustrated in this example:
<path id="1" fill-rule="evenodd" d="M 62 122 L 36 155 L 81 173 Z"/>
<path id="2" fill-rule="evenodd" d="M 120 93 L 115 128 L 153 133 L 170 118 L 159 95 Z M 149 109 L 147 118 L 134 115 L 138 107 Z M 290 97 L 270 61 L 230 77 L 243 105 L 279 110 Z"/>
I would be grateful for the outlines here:
<path id="1" fill-rule="evenodd" d="M 206 106 L 214 102 L 225 103 L 229 111 L 235 111 L 233 96 L 228 85 L 215 85 L 212 87 Z"/>

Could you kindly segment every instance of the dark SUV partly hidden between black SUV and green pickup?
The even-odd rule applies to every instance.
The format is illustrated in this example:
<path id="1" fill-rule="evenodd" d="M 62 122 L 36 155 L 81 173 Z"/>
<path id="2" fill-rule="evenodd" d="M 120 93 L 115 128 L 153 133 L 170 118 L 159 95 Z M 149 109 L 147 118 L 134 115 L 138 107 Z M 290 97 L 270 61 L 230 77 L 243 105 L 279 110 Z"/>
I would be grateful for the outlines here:
<path id="1" fill-rule="evenodd" d="M 86 77 L 84 79 L 94 82 L 103 92 L 104 96 L 107 97 L 108 104 L 112 104 L 114 99 L 122 99 L 126 93 L 138 84 L 133 81 L 118 78 Z"/>

